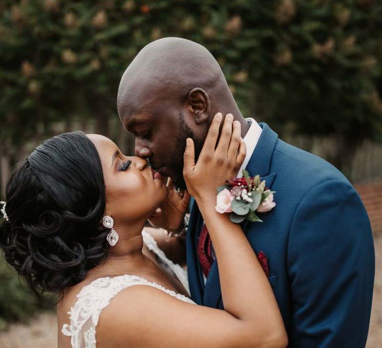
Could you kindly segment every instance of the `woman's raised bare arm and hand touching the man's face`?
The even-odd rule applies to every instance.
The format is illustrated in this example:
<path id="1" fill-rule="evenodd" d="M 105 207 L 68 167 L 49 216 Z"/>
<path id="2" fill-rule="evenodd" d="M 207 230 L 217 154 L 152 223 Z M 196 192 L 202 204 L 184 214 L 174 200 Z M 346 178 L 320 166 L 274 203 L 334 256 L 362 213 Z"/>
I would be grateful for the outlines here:
<path id="1" fill-rule="evenodd" d="M 225 120 L 215 150 L 219 126 L 215 117 L 196 165 L 188 140 L 184 174 L 213 242 L 225 310 L 192 305 L 149 286 L 132 286 L 101 313 L 97 347 L 287 346 L 276 299 L 253 249 L 240 226 L 214 210 L 216 186 L 235 173 L 245 157 L 242 141 L 237 155 L 240 125 L 233 125 L 231 137 L 232 120 Z"/>

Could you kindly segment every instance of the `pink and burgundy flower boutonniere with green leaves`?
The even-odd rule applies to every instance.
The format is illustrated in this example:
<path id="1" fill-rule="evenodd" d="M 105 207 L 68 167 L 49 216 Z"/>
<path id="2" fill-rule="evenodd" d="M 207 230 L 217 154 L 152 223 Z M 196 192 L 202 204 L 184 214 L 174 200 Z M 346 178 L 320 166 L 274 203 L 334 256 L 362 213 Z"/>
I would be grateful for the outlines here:
<path id="1" fill-rule="evenodd" d="M 265 187 L 260 175 L 251 177 L 244 170 L 243 177 L 226 180 L 225 185 L 217 188 L 215 209 L 220 214 L 230 213 L 229 219 L 234 223 L 245 219 L 263 222 L 256 213 L 266 213 L 276 206 L 274 193 Z"/>

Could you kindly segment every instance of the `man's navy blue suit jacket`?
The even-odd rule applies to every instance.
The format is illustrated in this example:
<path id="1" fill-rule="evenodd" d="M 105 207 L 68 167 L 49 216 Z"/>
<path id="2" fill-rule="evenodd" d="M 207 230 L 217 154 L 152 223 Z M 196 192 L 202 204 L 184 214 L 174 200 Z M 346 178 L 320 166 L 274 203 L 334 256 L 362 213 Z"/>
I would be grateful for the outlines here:
<path id="1" fill-rule="evenodd" d="M 244 223 L 243 230 L 256 253 L 268 258 L 289 347 L 365 347 L 375 259 L 364 205 L 336 168 L 260 125 L 263 131 L 247 171 L 260 174 L 277 192 L 277 205 L 261 214 L 263 223 Z M 217 261 L 204 285 L 197 259 L 202 224 L 194 203 L 187 235 L 191 297 L 222 309 Z"/>

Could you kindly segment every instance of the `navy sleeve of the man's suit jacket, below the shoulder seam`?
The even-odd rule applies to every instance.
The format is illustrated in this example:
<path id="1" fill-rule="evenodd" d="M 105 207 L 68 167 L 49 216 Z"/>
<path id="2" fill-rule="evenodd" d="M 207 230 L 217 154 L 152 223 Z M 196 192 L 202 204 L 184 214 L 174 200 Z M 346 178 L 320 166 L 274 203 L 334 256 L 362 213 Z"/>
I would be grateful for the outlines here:
<path id="1" fill-rule="evenodd" d="M 365 347 L 374 283 L 369 218 L 354 188 L 340 179 L 312 188 L 300 202 L 288 243 L 293 347 Z"/>

